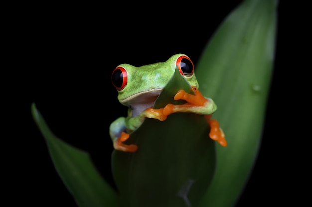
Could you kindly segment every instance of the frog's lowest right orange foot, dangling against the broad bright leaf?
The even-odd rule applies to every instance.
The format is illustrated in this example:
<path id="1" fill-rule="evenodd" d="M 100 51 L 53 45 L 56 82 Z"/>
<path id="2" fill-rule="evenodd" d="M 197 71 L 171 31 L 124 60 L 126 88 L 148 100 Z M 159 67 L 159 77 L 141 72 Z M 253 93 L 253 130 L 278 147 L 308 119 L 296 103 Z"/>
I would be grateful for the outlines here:
<path id="1" fill-rule="evenodd" d="M 225 135 L 219 126 L 219 122 L 216 119 L 210 119 L 211 116 L 211 114 L 205 115 L 205 118 L 210 125 L 209 137 L 212 140 L 218 141 L 221 146 L 227 146 Z"/>

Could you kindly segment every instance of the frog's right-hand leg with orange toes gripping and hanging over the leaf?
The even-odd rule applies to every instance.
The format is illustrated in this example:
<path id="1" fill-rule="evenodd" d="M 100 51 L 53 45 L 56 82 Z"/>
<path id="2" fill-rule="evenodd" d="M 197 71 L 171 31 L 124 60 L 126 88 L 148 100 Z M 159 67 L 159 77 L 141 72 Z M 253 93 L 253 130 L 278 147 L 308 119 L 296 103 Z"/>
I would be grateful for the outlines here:
<path id="1" fill-rule="evenodd" d="M 226 146 L 227 142 L 223 130 L 219 127 L 219 122 L 216 119 L 211 119 L 212 113 L 217 110 L 216 105 L 211 99 L 205 98 L 195 86 L 192 86 L 192 90 L 195 95 L 179 90 L 174 96 L 174 100 L 182 99 L 187 103 L 181 105 L 167 104 L 164 107 L 163 114 L 166 116 L 175 112 L 203 114 L 210 125 L 210 138 L 218 141 L 220 145 Z"/>

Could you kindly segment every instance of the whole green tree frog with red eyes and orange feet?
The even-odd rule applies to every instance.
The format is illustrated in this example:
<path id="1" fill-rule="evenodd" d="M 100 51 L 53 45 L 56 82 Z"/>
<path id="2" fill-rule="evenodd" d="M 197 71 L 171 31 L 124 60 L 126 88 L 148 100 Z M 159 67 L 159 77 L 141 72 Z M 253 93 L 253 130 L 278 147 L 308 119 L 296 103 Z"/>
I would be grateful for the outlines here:
<path id="1" fill-rule="evenodd" d="M 180 75 L 190 84 L 193 94 L 179 90 L 174 100 L 184 100 L 184 104 L 168 103 L 164 108 L 154 109 L 157 97 L 173 76 L 176 67 Z M 118 100 L 128 107 L 127 117 L 119 117 L 109 127 L 109 134 L 115 150 L 136 152 L 138 146 L 125 144 L 130 133 L 138 129 L 146 118 L 165 121 L 172 113 L 188 112 L 203 115 L 210 126 L 209 137 L 221 146 L 227 146 L 225 134 L 212 114 L 217 106 L 211 98 L 206 98 L 199 91 L 199 84 L 194 73 L 193 61 L 185 54 L 171 56 L 165 62 L 144 66 L 120 64 L 112 72 L 112 84 L 118 92 Z"/>

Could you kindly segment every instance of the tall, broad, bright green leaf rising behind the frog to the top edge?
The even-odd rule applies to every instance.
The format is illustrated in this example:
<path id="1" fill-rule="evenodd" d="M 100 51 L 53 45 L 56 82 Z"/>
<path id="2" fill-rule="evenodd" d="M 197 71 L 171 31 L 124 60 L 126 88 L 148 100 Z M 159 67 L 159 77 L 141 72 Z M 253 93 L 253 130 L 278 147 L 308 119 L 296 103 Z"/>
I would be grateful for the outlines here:
<path id="1" fill-rule="evenodd" d="M 245 0 L 219 27 L 196 66 L 200 91 L 218 106 L 226 148 L 201 207 L 231 207 L 254 165 L 275 52 L 276 0 Z"/>

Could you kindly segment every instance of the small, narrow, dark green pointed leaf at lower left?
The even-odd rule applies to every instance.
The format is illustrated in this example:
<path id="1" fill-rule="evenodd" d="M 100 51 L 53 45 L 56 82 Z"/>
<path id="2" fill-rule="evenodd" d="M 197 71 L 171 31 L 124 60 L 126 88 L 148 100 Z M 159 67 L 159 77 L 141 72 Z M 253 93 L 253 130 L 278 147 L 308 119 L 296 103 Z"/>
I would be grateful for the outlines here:
<path id="1" fill-rule="evenodd" d="M 92 164 L 89 154 L 57 138 L 35 104 L 33 118 L 46 140 L 54 166 L 80 207 L 115 207 L 117 195 Z"/>

